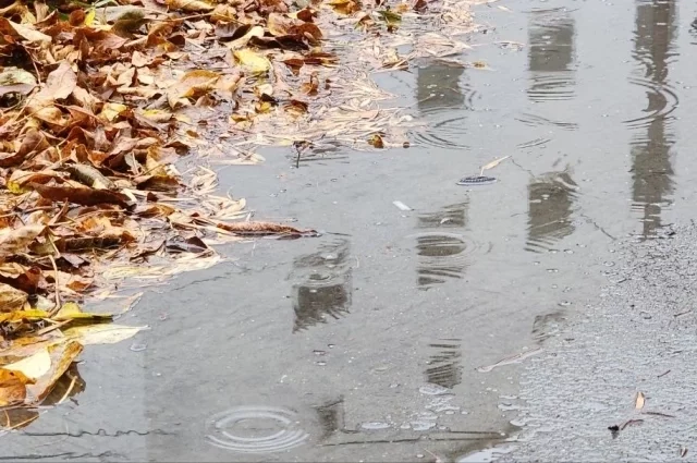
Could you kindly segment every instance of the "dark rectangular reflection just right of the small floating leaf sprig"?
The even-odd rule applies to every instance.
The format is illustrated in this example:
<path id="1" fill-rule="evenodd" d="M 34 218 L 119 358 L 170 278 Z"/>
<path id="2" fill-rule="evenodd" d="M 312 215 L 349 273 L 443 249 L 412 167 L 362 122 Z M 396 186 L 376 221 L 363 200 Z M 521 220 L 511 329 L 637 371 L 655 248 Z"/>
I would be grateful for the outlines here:
<path id="1" fill-rule="evenodd" d="M 554 243 L 574 232 L 571 212 L 576 188 L 567 172 L 551 172 L 533 180 L 527 187 L 526 251 L 549 251 Z"/>

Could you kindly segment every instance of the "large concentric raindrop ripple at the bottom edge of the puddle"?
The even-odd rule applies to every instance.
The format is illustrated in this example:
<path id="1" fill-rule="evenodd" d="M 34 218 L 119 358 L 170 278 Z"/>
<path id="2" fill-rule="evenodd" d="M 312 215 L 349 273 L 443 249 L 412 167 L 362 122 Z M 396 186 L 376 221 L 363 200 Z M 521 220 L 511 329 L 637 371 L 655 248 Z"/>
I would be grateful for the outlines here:
<path id="1" fill-rule="evenodd" d="M 297 414 L 274 406 L 239 406 L 212 416 L 206 441 L 240 453 L 271 453 L 302 446 L 309 438 Z"/>

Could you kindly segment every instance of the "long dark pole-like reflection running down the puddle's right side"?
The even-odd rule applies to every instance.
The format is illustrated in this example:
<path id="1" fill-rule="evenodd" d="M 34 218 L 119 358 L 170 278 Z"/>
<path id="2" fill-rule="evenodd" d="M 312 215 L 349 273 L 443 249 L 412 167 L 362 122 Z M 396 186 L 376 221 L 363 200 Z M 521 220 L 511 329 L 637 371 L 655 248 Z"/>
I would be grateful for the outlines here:
<path id="1" fill-rule="evenodd" d="M 639 1 L 636 7 L 633 58 L 640 64 L 641 78 L 632 83 L 647 89 L 648 115 L 628 121 L 640 129 L 631 142 L 633 157 L 632 208 L 641 214 L 641 235 L 656 235 L 661 227 L 661 207 L 673 191 L 671 176 L 671 147 L 674 137 L 670 131 L 670 112 L 677 106 L 677 97 L 668 84 L 675 35 L 675 5 L 673 1 Z"/>

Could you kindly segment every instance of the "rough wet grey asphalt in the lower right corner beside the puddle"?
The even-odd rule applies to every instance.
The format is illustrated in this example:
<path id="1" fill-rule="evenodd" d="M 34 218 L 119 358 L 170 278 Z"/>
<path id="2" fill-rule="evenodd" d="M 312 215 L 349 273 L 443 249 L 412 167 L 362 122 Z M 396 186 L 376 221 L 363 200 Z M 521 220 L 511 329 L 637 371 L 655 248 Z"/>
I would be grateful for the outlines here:
<path id="1" fill-rule="evenodd" d="M 696 252 L 694 226 L 617 246 L 601 298 L 524 374 L 501 461 L 697 461 Z"/>

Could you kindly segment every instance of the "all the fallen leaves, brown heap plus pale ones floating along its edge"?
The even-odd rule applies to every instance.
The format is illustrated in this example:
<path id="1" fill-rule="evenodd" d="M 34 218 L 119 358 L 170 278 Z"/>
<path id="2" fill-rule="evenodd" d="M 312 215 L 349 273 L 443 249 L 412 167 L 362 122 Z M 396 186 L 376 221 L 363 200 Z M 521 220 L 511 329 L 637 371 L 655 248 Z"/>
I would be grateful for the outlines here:
<path id="1" fill-rule="evenodd" d="M 250 221 L 184 155 L 402 146 L 411 118 L 369 73 L 462 51 L 466 1 L 0 0 L 0 426 L 82 390 L 84 345 L 143 329 L 111 324 L 137 297 L 117 290 L 209 267 L 217 243 L 315 234 Z"/>

